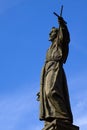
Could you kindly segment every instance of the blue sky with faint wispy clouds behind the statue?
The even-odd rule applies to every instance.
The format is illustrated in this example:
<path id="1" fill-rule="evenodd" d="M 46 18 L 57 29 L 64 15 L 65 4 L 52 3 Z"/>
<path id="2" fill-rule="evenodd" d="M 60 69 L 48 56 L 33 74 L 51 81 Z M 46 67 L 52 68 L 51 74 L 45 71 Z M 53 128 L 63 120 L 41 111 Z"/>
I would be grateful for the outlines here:
<path id="1" fill-rule="evenodd" d="M 53 12 L 60 12 L 70 31 L 64 65 L 74 124 L 87 128 L 87 1 L 0 0 L 0 130 L 41 130 L 36 93 L 50 42 Z"/>

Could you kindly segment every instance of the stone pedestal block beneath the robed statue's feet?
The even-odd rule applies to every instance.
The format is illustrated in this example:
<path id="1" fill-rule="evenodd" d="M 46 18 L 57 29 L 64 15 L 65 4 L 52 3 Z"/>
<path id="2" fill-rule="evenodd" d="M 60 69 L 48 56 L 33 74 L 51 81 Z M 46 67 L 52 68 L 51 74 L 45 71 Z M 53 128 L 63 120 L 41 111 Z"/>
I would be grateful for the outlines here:
<path id="1" fill-rule="evenodd" d="M 59 122 L 55 119 L 42 130 L 79 130 L 79 127 L 69 123 Z"/>

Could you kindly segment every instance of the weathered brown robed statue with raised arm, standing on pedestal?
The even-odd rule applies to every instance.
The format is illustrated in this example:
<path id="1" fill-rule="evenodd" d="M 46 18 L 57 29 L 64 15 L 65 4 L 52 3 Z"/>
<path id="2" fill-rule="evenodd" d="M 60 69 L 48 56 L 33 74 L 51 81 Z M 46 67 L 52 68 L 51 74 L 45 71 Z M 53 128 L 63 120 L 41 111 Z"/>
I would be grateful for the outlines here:
<path id="1" fill-rule="evenodd" d="M 67 80 L 63 69 L 69 52 L 70 35 L 62 16 L 58 16 L 58 23 L 59 28 L 53 27 L 49 33 L 49 41 L 52 44 L 47 50 L 41 74 L 40 93 L 38 93 L 40 120 L 45 121 L 45 126 L 55 119 L 73 123 Z"/>

